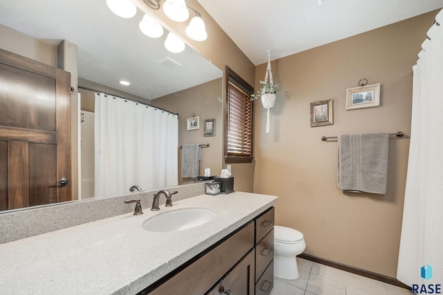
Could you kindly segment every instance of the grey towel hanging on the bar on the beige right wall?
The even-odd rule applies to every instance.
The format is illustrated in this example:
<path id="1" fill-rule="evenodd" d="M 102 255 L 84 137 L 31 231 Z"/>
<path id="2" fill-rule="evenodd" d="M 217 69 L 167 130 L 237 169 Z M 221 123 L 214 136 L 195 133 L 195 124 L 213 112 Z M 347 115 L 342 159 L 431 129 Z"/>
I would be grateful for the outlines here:
<path id="1" fill-rule="evenodd" d="M 337 185 L 342 191 L 386 193 L 389 133 L 338 135 Z"/>

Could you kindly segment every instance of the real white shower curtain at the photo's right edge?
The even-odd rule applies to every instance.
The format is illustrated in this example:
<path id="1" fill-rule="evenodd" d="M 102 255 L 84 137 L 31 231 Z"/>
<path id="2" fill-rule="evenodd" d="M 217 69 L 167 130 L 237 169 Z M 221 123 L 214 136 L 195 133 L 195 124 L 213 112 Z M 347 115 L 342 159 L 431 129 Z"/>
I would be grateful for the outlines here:
<path id="1" fill-rule="evenodd" d="M 413 66 L 413 114 L 397 278 L 443 283 L 443 10 Z M 431 266 L 432 278 L 421 277 Z M 430 273 L 428 273 L 429 275 Z"/>

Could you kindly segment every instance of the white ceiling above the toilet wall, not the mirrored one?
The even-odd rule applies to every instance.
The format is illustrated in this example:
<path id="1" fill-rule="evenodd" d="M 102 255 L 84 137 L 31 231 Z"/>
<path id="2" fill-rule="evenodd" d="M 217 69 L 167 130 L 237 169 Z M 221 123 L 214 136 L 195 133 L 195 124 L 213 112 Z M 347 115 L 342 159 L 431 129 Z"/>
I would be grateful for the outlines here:
<path id="1" fill-rule="evenodd" d="M 279 59 L 443 8 L 443 0 L 197 1 L 256 66 L 268 50 Z"/>

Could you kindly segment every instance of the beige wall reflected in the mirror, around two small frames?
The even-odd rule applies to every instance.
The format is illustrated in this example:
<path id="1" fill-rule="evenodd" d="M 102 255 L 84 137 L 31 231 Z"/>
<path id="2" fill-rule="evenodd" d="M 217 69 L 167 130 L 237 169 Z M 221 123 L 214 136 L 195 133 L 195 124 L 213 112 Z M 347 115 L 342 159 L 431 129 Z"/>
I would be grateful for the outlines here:
<path id="1" fill-rule="evenodd" d="M 179 146 L 183 144 L 210 144 L 201 149 L 200 175 L 209 168 L 212 175 L 220 175 L 223 153 L 223 118 L 221 98 L 222 78 L 153 99 L 151 104 L 179 113 Z M 187 130 L 187 119 L 195 113 L 200 117 L 200 129 Z M 204 122 L 215 119 L 215 136 L 204 136 Z M 193 182 L 181 178 L 181 150 L 179 153 L 179 184 Z"/>

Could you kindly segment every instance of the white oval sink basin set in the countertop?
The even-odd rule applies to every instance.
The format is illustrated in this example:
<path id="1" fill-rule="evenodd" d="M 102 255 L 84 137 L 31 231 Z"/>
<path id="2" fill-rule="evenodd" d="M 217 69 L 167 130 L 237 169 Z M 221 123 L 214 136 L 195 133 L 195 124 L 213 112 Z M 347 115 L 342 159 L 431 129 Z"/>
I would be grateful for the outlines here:
<path id="1" fill-rule="evenodd" d="M 183 231 L 204 225 L 214 216 L 213 211 L 204 208 L 178 209 L 149 218 L 142 227 L 147 231 Z"/>

